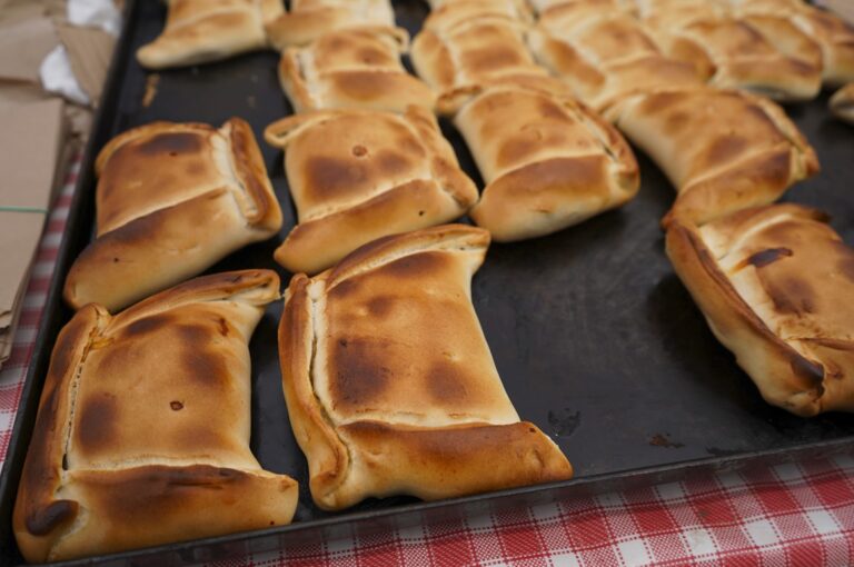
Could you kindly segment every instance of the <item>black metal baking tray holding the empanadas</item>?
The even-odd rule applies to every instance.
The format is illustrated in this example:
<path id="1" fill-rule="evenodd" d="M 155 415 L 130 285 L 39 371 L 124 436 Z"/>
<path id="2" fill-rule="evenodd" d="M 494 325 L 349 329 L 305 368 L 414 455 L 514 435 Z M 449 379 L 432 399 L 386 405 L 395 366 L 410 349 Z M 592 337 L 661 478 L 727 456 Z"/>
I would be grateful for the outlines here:
<path id="1" fill-rule="evenodd" d="M 398 23 L 413 33 L 428 11 L 416 0 L 395 2 L 395 8 Z M 97 151 L 112 136 L 152 120 L 220 125 L 239 116 L 260 140 L 268 123 L 291 112 L 278 84 L 274 52 L 160 72 L 157 94 L 143 106 L 147 74 L 133 53 L 160 32 L 166 9 L 161 2 L 131 1 L 126 12 L 0 476 L 3 564 L 22 561 L 11 531 L 12 507 L 53 341 L 71 316 L 61 302 L 61 285 L 70 262 L 92 237 Z M 787 108 L 815 146 L 824 171 L 791 190 L 785 200 L 830 211 L 834 228 L 852 243 L 854 199 L 847 177 L 854 130 L 830 117 L 827 96 Z M 443 129 L 464 169 L 483 187 L 459 135 L 448 123 Z M 272 251 L 294 226 L 295 212 L 281 151 L 260 146 L 282 202 L 281 233 L 209 271 L 270 268 L 287 282 L 290 275 L 274 263 Z M 850 450 L 854 416 L 802 419 L 766 405 L 712 336 L 664 255 L 658 219 L 671 206 L 674 190 L 652 162 L 640 155 L 638 160 L 642 187 L 634 201 L 546 238 L 493 245 L 474 279 L 475 308 L 510 399 L 524 419 L 560 446 L 575 466 L 575 479 L 440 503 L 398 497 L 371 499 L 339 514 L 319 510 L 311 504 L 306 460 L 291 435 L 282 399 L 277 302 L 268 308 L 250 345 L 251 448 L 264 468 L 299 480 L 294 524 L 64 565 L 186 565 L 249 551 L 305 548 L 358 534 L 374 534 L 379 545 L 391 527 Z"/>

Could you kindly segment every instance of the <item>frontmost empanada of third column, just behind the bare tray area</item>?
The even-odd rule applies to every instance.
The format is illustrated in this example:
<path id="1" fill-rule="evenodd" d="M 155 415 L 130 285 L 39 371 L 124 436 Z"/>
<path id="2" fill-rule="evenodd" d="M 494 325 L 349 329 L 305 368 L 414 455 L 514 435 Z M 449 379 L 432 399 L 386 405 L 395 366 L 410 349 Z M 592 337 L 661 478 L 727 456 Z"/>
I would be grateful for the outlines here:
<path id="1" fill-rule="evenodd" d="M 562 230 L 632 199 L 639 173 L 617 130 L 584 105 L 528 80 L 458 100 L 454 123 L 486 188 L 469 216 L 498 241 Z M 559 84 L 559 83 L 558 83 Z"/>

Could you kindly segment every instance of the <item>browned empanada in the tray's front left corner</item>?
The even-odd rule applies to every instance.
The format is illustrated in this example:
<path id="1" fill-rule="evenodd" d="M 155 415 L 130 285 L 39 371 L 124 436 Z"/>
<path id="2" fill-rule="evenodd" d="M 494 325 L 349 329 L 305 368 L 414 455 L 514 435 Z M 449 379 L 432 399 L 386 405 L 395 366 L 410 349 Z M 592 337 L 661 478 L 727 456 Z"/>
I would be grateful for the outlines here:
<path id="1" fill-rule="evenodd" d="M 288 524 L 297 484 L 249 449 L 249 338 L 279 278 L 198 278 L 111 316 L 78 311 L 53 349 L 13 514 L 42 563 Z"/>

